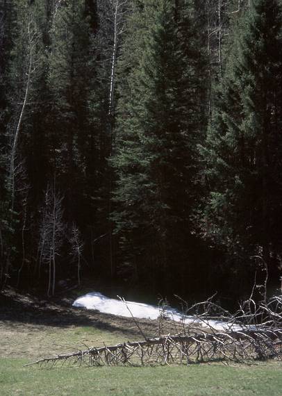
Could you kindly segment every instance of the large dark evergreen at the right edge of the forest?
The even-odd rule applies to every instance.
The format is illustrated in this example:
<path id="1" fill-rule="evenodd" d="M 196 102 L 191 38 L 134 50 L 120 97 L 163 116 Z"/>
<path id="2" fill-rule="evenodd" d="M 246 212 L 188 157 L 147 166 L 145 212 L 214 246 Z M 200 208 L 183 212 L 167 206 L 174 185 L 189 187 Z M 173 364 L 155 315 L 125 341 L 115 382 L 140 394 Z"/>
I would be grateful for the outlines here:
<path id="1" fill-rule="evenodd" d="M 281 9 L 256 0 L 238 24 L 214 122 L 201 147 L 206 163 L 202 228 L 238 268 L 281 252 Z"/>

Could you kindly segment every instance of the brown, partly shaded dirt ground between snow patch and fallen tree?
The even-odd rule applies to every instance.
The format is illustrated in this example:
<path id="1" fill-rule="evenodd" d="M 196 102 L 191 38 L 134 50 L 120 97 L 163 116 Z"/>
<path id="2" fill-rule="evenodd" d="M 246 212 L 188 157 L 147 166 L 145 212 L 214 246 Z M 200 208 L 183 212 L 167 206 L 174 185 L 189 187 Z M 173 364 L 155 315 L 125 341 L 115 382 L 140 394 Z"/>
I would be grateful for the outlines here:
<path id="1" fill-rule="evenodd" d="M 0 357 L 38 358 L 89 346 L 142 340 L 131 318 L 72 307 L 72 292 L 39 299 L 6 288 L 0 294 Z M 158 335 L 157 320 L 138 320 L 146 337 Z M 178 329 L 167 324 L 167 333 Z"/>

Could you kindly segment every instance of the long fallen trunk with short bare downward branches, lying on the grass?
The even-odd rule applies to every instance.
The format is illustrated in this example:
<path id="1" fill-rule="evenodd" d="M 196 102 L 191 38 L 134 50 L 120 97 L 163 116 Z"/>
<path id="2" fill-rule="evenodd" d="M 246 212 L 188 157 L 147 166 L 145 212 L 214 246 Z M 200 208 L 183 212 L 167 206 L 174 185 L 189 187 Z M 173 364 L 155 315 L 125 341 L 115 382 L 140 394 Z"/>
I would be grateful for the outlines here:
<path id="1" fill-rule="evenodd" d="M 144 365 L 213 361 L 242 361 L 256 358 L 282 358 L 282 329 L 230 331 L 228 333 L 163 336 L 144 341 L 90 347 L 88 349 L 40 358 L 29 365 L 56 363 L 71 359 L 81 363 L 85 356 L 91 365 Z M 127 354 L 127 352 L 130 352 Z"/>

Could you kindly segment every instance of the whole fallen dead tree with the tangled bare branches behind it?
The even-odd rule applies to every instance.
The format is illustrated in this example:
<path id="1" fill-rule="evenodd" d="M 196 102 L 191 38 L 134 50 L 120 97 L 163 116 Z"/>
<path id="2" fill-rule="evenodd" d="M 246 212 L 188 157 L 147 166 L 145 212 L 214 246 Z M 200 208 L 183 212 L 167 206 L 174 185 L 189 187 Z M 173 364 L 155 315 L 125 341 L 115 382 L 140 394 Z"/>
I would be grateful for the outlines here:
<path id="1" fill-rule="evenodd" d="M 167 320 L 165 308 L 160 308 L 158 336 L 154 338 L 147 338 L 133 320 L 143 338 L 138 342 L 88 347 L 30 364 L 168 365 L 282 359 L 282 296 L 256 303 L 251 295 L 233 314 L 210 298 L 185 306 L 180 323 Z M 174 334 L 164 336 L 172 324 Z"/>

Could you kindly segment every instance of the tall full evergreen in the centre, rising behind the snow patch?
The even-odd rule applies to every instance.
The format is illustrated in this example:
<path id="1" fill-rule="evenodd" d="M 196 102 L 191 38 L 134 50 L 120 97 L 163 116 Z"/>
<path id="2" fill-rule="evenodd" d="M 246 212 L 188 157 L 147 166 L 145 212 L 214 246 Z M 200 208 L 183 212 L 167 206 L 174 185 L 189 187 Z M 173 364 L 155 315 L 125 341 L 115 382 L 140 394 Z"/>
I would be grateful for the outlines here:
<path id="1" fill-rule="evenodd" d="M 123 258 L 161 283 L 172 269 L 178 277 L 174 264 L 183 270 L 183 251 L 191 249 L 197 120 L 204 113 L 189 6 L 136 2 L 119 65 L 128 77 L 119 90 L 113 218 Z"/>

